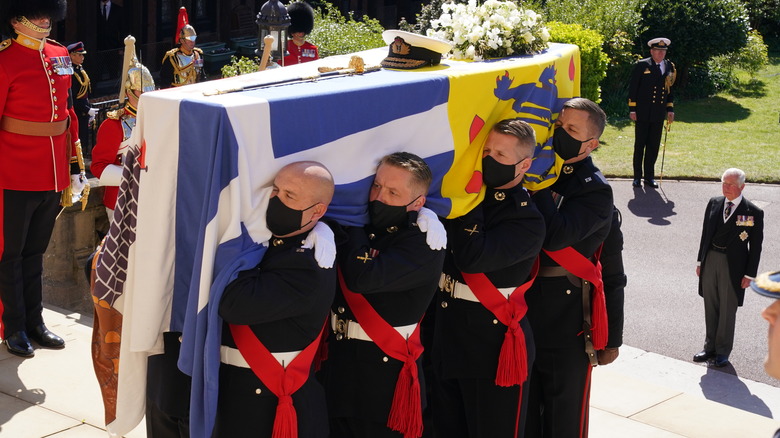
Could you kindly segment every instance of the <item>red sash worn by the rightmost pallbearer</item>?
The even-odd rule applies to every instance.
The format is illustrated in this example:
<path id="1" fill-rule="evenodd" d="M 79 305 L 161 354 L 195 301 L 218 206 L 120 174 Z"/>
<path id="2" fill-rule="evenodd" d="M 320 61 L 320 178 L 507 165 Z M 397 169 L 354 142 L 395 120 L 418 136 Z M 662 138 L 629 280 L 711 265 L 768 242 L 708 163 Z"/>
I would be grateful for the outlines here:
<path id="1" fill-rule="evenodd" d="M 593 285 L 591 292 L 591 321 L 593 322 L 593 348 L 603 350 L 607 346 L 609 330 L 607 327 L 607 301 L 604 297 L 604 282 L 601 280 L 601 248 L 596 250 L 594 264 L 585 256 L 568 246 L 557 251 L 544 252 L 574 276 L 589 281 Z"/>

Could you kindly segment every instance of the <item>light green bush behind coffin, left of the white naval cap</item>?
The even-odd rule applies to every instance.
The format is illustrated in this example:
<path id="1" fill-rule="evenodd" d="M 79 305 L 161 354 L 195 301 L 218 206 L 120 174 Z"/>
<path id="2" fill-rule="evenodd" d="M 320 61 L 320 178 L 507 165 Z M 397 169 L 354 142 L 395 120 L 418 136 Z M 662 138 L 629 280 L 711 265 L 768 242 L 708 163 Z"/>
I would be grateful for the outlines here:
<path id="1" fill-rule="evenodd" d="M 352 13 L 345 17 L 330 3 L 314 13 L 314 30 L 306 38 L 319 47 L 320 57 L 344 55 L 385 45 L 384 28 L 379 20 L 363 17 L 355 20 Z"/>

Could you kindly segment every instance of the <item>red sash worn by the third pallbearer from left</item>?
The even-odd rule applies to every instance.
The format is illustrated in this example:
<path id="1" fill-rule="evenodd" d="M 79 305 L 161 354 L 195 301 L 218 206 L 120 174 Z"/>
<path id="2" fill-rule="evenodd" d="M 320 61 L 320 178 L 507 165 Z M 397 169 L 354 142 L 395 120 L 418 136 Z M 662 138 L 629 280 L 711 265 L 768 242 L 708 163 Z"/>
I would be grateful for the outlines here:
<path id="1" fill-rule="evenodd" d="M 539 257 L 534 260 L 531 268 L 531 279 L 521 284 L 509 298 L 504 297 L 498 288 L 483 273 L 467 274 L 461 272 L 463 279 L 469 286 L 479 302 L 485 306 L 506 327 L 504 343 L 501 345 L 501 353 L 498 356 L 498 369 L 496 370 L 496 385 L 513 386 L 522 385 L 528 378 L 528 351 L 525 345 L 525 335 L 520 327 L 520 320 L 528 311 L 525 303 L 525 291 L 527 291 L 536 279 L 539 272 Z"/>

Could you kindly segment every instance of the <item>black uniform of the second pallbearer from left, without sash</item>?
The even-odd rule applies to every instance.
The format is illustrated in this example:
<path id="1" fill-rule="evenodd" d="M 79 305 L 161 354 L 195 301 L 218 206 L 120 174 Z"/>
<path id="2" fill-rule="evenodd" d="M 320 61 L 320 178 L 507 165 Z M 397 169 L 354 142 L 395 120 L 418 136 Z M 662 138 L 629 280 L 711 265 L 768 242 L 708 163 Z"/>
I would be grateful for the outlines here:
<path id="1" fill-rule="evenodd" d="M 393 327 L 420 322 L 436 292 L 444 263 L 444 251 L 431 249 L 425 233 L 417 228 L 417 212 L 410 212 L 407 218 L 407 223 L 386 230 L 370 225 L 348 227 L 347 240 L 338 248 L 338 264 L 347 287 L 363 295 Z M 332 310 L 339 320 L 356 320 L 340 290 Z M 420 362 L 418 359 L 417 370 L 424 408 Z M 332 333 L 322 372 L 331 436 L 401 437 L 387 422 L 402 366 L 373 342 Z"/>

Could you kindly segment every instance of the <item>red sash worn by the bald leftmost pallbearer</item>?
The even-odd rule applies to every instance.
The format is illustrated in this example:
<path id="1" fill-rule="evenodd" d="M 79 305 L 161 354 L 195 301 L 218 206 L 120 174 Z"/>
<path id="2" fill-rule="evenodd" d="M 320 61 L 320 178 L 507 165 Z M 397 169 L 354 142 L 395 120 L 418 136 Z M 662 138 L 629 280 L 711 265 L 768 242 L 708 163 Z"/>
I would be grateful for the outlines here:
<path id="1" fill-rule="evenodd" d="M 309 379 L 312 361 L 324 331 L 323 325 L 317 338 L 287 364 L 287 367 L 282 367 L 248 325 L 230 324 L 230 333 L 241 356 L 257 378 L 279 398 L 272 438 L 298 437 L 298 415 L 293 406 L 292 395 Z"/>

